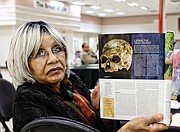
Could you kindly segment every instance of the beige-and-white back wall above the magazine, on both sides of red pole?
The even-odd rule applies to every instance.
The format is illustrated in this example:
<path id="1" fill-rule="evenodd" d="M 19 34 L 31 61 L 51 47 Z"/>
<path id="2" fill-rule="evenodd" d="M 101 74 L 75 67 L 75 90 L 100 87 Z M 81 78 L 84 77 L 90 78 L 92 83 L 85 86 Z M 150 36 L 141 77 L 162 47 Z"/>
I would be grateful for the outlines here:
<path id="1" fill-rule="evenodd" d="M 176 40 L 180 39 L 178 18 L 180 14 L 166 15 L 164 29 L 174 31 Z M 102 33 L 159 32 L 158 24 L 157 15 L 108 18 L 103 20 Z"/>

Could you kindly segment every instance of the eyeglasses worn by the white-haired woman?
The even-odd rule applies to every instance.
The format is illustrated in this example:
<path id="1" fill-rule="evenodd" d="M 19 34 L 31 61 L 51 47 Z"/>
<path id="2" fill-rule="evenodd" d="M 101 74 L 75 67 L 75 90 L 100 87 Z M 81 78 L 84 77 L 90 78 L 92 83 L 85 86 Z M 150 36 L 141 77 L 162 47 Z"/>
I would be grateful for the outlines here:
<path id="1" fill-rule="evenodd" d="M 65 53 L 65 47 L 64 46 L 55 46 L 51 49 L 51 52 L 54 54 L 54 55 L 61 55 L 61 54 L 64 54 Z M 39 49 L 39 51 L 37 52 L 36 55 L 30 55 L 31 58 L 44 58 L 46 56 L 48 56 L 49 53 L 48 51 L 46 50 L 43 50 L 43 49 Z"/>

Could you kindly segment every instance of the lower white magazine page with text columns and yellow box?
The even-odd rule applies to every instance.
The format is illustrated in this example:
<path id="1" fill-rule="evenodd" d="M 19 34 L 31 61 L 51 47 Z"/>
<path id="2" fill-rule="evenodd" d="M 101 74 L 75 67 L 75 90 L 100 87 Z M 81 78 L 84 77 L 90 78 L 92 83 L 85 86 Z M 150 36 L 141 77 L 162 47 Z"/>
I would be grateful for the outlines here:
<path id="1" fill-rule="evenodd" d="M 163 123 L 170 124 L 170 80 L 100 79 L 100 87 L 102 118 L 130 120 L 163 113 Z"/>

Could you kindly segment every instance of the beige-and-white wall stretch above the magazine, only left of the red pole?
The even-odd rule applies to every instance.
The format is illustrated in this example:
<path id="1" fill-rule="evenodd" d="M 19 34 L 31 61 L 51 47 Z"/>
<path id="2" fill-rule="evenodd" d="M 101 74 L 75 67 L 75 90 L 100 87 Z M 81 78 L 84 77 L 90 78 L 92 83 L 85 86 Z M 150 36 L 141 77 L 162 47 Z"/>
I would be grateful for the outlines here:
<path id="1" fill-rule="evenodd" d="M 103 33 L 158 32 L 157 20 L 158 20 L 157 15 L 104 19 L 102 32 Z"/>

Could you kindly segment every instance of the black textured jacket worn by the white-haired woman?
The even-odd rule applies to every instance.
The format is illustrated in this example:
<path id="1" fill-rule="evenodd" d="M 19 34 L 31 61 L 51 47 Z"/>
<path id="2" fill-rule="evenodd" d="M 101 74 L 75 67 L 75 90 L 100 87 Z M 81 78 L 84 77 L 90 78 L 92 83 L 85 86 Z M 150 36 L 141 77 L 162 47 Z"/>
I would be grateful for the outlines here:
<path id="1" fill-rule="evenodd" d="M 74 88 L 90 101 L 90 92 L 74 73 L 71 73 L 70 82 Z M 13 107 L 13 129 L 20 132 L 23 126 L 32 120 L 47 116 L 61 116 L 83 122 L 61 99 L 40 83 L 24 83 L 18 87 Z"/>

